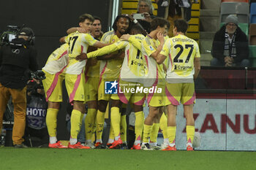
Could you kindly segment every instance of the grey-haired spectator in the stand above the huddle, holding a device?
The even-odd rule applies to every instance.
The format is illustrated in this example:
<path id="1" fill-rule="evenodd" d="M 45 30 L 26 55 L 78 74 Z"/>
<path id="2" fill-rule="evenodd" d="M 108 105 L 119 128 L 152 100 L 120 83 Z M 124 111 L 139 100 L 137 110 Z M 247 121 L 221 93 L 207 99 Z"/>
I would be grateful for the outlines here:
<path id="1" fill-rule="evenodd" d="M 149 33 L 150 32 L 150 23 L 155 18 L 153 15 L 154 7 L 152 5 L 151 0 L 140 0 L 138 1 L 138 11 L 137 13 L 143 14 L 143 19 L 138 19 L 138 23 L 140 23 L 141 26 Z M 137 19 L 135 17 L 135 14 L 132 15 L 133 18 Z"/>

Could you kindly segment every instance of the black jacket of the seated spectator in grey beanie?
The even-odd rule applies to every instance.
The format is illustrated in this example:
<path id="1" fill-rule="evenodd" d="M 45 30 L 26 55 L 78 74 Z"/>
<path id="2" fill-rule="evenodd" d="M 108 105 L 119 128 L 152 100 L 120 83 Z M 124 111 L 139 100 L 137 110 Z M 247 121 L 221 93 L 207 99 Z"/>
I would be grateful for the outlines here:
<path id="1" fill-rule="evenodd" d="M 225 56 L 224 46 L 225 46 L 225 30 L 226 27 L 222 26 L 222 28 L 217 31 L 214 36 L 214 42 L 211 49 L 211 54 L 214 58 L 218 58 L 219 61 L 224 63 Z M 236 58 L 234 58 L 235 63 L 241 62 L 243 59 L 248 58 L 249 56 L 249 47 L 248 47 L 248 39 L 246 34 L 241 31 L 241 28 L 236 28 Z"/>

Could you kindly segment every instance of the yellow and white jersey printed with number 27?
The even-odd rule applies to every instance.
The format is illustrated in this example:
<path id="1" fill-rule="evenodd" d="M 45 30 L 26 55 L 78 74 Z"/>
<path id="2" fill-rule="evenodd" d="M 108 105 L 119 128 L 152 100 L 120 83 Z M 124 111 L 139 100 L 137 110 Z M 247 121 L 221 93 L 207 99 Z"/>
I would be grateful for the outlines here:
<path id="1" fill-rule="evenodd" d="M 194 39 L 178 34 L 165 41 L 160 54 L 169 60 L 167 82 L 194 82 L 194 59 L 200 58 L 199 47 Z"/>

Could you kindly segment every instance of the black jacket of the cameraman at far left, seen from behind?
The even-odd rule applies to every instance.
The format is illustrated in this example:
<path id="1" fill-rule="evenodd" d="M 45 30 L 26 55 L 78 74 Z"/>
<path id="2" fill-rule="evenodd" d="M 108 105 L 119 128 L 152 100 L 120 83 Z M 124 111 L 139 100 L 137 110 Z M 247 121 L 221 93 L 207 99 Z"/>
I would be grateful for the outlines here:
<path id="1" fill-rule="evenodd" d="M 24 88 L 29 70 L 37 71 L 37 51 L 24 39 L 0 48 L 0 82 L 7 88 Z"/>

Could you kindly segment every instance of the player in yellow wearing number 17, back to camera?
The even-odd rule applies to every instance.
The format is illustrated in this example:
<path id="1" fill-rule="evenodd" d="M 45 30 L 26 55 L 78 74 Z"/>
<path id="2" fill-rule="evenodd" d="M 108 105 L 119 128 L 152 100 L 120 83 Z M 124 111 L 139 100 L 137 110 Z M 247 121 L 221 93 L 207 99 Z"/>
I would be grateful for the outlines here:
<path id="1" fill-rule="evenodd" d="M 80 15 L 79 25 L 87 32 L 91 31 L 94 18 L 89 14 Z M 85 111 L 85 74 L 86 61 L 77 61 L 75 57 L 80 53 L 87 53 L 89 46 L 104 47 L 105 44 L 97 41 L 91 34 L 81 34 L 78 31 L 66 37 L 69 44 L 69 63 L 67 65 L 65 84 L 69 95 L 69 102 L 73 104 L 71 115 L 71 130 L 69 148 L 89 149 L 84 147 L 77 140 L 80 131 L 81 118 Z"/>

